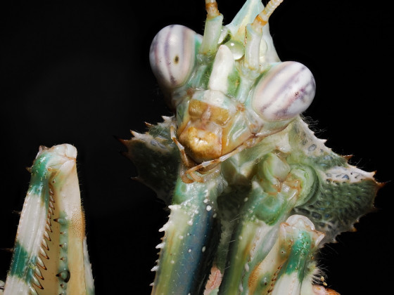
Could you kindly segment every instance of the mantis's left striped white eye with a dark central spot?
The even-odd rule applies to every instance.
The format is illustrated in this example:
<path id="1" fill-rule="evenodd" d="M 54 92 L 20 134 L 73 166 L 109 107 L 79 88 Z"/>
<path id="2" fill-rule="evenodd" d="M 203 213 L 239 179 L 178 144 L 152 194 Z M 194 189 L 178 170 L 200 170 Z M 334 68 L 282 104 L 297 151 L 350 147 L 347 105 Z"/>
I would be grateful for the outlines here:
<path id="1" fill-rule="evenodd" d="M 196 36 L 196 32 L 182 25 L 170 25 L 156 34 L 149 60 L 160 84 L 174 89 L 186 82 L 194 65 Z"/>

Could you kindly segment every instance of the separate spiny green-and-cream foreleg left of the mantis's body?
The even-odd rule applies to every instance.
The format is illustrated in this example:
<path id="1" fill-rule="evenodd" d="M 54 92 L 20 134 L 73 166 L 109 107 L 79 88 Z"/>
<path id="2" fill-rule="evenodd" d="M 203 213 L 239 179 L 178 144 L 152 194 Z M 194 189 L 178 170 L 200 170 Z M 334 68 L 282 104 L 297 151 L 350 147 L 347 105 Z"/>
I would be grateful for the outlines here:
<path id="1" fill-rule="evenodd" d="M 4 295 L 94 294 L 76 157 L 72 145 L 40 147 Z"/>

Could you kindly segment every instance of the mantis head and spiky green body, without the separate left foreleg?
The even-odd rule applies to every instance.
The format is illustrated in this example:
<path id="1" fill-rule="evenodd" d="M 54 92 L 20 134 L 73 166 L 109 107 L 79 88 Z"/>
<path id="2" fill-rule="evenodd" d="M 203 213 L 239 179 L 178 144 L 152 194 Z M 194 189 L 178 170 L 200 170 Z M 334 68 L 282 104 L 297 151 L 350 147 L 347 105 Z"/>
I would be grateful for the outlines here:
<path id="1" fill-rule="evenodd" d="M 152 294 L 336 293 L 317 284 L 317 251 L 371 210 L 379 183 L 300 117 L 315 82 L 274 49 L 280 3 L 248 0 L 223 25 L 206 0 L 203 36 L 171 25 L 153 39 L 174 117 L 125 141 L 170 208 Z"/>

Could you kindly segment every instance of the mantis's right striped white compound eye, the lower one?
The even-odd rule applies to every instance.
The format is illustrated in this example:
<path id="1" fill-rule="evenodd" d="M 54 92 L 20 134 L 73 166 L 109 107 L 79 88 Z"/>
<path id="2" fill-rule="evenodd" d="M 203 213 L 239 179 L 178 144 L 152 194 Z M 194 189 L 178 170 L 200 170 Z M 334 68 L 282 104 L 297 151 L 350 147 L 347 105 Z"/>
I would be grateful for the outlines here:
<path id="1" fill-rule="evenodd" d="M 255 86 L 253 109 L 267 121 L 291 119 L 310 106 L 315 90 L 312 72 L 305 65 L 279 63 Z"/>

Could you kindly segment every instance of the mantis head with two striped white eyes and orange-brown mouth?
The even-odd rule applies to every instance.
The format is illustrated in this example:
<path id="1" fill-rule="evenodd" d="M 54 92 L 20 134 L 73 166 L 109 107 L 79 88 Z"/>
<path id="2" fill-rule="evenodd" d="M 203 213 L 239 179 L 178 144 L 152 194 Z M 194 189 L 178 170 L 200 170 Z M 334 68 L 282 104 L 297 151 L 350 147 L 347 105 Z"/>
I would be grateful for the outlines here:
<path id="1" fill-rule="evenodd" d="M 257 17 L 260 3 L 250 4 L 224 27 L 218 11 L 208 13 L 203 37 L 172 25 L 153 40 L 151 67 L 176 110 L 179 145 L 196 164 L 255 145 L 312 103 L 312 73 L 300 63 L 281 63 L 267 22 L 259 22 L 280 2 Z"/>

